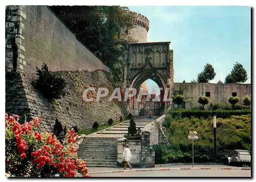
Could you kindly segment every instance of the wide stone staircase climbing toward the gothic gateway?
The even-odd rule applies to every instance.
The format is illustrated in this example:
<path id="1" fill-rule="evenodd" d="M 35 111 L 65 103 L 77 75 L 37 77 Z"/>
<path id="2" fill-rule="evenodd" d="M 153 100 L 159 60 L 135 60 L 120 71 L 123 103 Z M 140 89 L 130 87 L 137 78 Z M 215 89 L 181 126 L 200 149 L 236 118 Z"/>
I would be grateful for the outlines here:
<path id="1" fill-rule="evenodd" d="M 134 119 L 136 128 L 143 128 L 149 119 Z M 117 140 L 128 133 L 130 121 L 88 135 L 79 146 L 78 157 L 89 167 L 117 167 Z"/>

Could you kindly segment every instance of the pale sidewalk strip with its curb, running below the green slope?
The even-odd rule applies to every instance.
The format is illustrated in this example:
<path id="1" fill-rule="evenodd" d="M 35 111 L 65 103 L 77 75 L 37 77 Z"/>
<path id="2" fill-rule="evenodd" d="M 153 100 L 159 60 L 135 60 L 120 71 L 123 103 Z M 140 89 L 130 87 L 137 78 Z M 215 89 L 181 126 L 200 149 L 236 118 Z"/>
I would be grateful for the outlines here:
<path id="1" fill-rule="evenodd" d="M 167 170 L 251 170 L 250 167 L 236 167 L 236 166 L 226 166 L 226 165 L 166 165 L 163 167 L 153 167 L 153 168 L 126 168 L 125 170 L 120 167 L 116 168 L 106 168 L 106 167 L 89 167 L 89 175 L 99 174 L 99 173 L 114 173 L 114 172 L 134 172 L 134 171 L 167 171 Z M 80 177 L 81 175 L 77 175 Z"/>

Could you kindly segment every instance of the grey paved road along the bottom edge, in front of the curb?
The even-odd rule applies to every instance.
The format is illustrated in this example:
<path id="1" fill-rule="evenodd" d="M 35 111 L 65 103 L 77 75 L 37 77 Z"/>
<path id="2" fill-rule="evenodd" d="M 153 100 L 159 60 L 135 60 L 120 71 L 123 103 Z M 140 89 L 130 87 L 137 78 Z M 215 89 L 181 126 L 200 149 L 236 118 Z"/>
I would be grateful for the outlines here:
<path id="1" fill-rule="evenodd" d="M 250 170 L 177 170 L 92 174 L 92 177 L 250 177 Z"/>

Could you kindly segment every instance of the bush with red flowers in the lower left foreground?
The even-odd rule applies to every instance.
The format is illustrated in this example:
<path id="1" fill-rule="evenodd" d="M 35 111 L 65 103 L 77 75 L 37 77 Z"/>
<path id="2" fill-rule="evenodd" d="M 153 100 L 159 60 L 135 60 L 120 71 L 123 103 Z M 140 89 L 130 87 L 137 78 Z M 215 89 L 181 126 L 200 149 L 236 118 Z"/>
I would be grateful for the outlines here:
<path id="1" fill-rule="evenodd" d="M 18 123 L 19 116 L 5 114 L 6 173 L 23 177 L 75 177 L 88 175 L 86 162 L 77 158 L 78 136 L 67 131 L 63 145 L 52 133 L 39 134 L 34 128 L 40 118 Z"/>

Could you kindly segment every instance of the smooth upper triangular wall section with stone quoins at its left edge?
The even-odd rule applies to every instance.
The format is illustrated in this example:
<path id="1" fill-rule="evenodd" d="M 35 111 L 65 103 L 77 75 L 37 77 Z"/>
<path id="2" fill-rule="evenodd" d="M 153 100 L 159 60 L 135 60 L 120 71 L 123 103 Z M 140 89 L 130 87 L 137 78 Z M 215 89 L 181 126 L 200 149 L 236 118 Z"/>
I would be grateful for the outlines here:
<path id="1" fill-rule="evenodd" d="M 49 7 L 7 6 L 6 70 L 32 73 L 43 63 L 51 71 L 110 72 Z"/>

